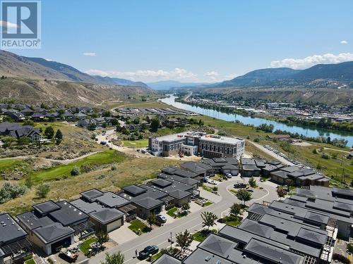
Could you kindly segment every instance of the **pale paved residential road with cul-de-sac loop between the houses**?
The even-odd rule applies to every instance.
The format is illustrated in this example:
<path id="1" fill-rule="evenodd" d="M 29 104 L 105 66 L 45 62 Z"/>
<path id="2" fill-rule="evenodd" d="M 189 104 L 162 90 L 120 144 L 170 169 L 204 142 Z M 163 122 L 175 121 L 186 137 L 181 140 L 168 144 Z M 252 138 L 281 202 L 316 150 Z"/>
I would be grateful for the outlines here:
<path id="1" fill-rule="evenodd" d="M 113 249 L 109 249 L 108 251 L 104 251 L 103 253 L 98 254 L 94 258 L 90 258 L 86 260 L 85 263 L 101 263 L 104 261 L 105 253 L 116 253 L 117 251 L 121 251 L 124 254 L 126 261 L 124 263 L 127 264 L 136 264 L 140 263 L 139 260 L 134 258 L 135 250 L 138 251 L 145 248 L 145 246 L 155 244 L 162 248 L 166 248 L 170 246 L 167 242 L 167 239 L 170 237 L 170 232 L 172 232 L 173 239 L 175 238 L 175 234 L 179 232 L 184 232 L 184 230 L 189 230 L 189 232 L 196 232 L 197 230 L 201 230 L 201 213 L 204 211 L 210 211 L 218 215 L 220 217 L 222 213 L 229 209 L 233 203 L 240 203 L 234 194 L 229 191 L 229 188 L 235 182 L 239 182 L 241 179 L 240 177 L 234 177 L 232 180 L 228 180 L 226 182 L 221 182 L 218 184 L 218 192 L 220 194 L 220 201 L 217 203 L 213 203 L 213 205 L 208 206 L 199 210 L 196 213 L 191 213 L 190 215 L 176 220 L 170 224 L 164 225 L 163 227 L 156 228 L 147 234 L 143 234 L 136 239 L 131 241 L 127 241 L 124 244 L 120 244 Z M 258 182 L 260 187 L 265 189 L 265 194 L 261 197 L 258 197 L 256 200 L 251 200 L 247 204 L 250 205 L 251 203 L 258 202 L 261 203 L 263 200 L 265 201 L 273 201 L 277 199 L 277 193 L 275 189 L 275 184 L 271 182 Z"/>

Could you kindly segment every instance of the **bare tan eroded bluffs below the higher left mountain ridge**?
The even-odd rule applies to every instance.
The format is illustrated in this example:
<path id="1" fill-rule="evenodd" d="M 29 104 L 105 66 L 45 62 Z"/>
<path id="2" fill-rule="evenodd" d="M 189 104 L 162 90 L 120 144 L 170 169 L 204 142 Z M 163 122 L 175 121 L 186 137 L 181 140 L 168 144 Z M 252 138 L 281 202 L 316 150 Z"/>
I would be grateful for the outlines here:
<path id="1" fill-rule="evenodd" d="M 0 80 L 1 101 L 21 103 L 62 103 L 75 106 L 97 105 L 104 101 L 118 101 L 129 96 L 154 94 L 151 89 L 116 84 L 88 84 L 59 80 L 34 80 L 7 77 Z"/>

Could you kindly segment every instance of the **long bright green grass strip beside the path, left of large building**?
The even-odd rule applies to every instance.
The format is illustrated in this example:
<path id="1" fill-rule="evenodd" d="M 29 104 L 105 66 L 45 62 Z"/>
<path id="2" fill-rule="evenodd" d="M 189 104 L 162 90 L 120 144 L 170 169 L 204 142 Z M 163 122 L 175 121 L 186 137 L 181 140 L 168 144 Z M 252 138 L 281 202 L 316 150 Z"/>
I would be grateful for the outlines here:
<path id="1" fill-rule="evenodd" d="M 56 180 L 57 178 L 61 178 L 64 175 L 70 176 L 71 170 L 73 167 L 80 168 L 82 165 L 88 166 L 99 166 L 105 165 L 109 163 L 120 163 L 124 161 L 124 154 L 114 151 L 114 150 L 106 150 L 100 153 L 95 153 L 86 158 L 82 158 L 73 163 L 69 163 L 66 165 L 58 165 L 53 168 L 49 168 L 47 170 L 41 170 L 39 172 L 33 172 L 28 175 L 32 179 L 33 182 L 39 183 L 42 181 Z"/>

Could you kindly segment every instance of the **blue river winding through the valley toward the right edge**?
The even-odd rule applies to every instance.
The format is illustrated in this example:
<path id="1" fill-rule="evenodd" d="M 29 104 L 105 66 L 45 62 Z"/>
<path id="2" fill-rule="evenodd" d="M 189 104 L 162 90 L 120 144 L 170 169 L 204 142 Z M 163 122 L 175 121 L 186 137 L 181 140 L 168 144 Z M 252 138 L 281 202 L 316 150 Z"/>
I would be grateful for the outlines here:
<path id="1" fill-rule="evenodd" d="M 348 141 L 347 146 L 353 146 L 353 134 L 350 132 L 340 132 L 337 130 L 326 130 L 322 128 L 316 127 L 304 127 L 299 125 L 287 125 L 282 122 L 276 122 L 273 120 L 267 120 L 265 118 L 253 118 L 251 116 L 244 116 L 239 114 L 230 114 L 230 113 L 222 113 L 220 111 L 205 109 L 200 106 L 191 106 L 186 103 L 176 102 L 175 99 L 177 97 L 169 94 L 169 97 L 160 99 L 163 103 L 167 103 L 170 106 L 174 106 L 179 109 L 183 109 L 186 111 L 191 111 L 194 113 L 199 113 L 201 115 L 207 115 L 211 118 L 217 118 L 225 121 L 235 121 L 239 120 L 245 125 L 261 125 L 263 123 L 274 125 L 274 130 L 286 130 L 292 133 L 303 134 L 306 137 L 330 137 L 332 139 L 346 139 Z"/>

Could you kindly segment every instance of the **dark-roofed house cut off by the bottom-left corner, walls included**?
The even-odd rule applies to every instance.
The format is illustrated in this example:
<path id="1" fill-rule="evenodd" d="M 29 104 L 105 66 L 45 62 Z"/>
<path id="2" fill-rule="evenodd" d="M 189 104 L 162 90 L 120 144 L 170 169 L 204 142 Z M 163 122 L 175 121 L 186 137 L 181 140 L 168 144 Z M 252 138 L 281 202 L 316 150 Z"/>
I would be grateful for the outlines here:
<path id="1" fill-rule="evenodd" d="M 0 213 L 0 263 L 23 263 L 32 254 L 28 235 L 8 213 Z"/>

